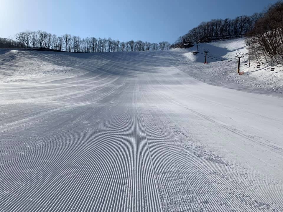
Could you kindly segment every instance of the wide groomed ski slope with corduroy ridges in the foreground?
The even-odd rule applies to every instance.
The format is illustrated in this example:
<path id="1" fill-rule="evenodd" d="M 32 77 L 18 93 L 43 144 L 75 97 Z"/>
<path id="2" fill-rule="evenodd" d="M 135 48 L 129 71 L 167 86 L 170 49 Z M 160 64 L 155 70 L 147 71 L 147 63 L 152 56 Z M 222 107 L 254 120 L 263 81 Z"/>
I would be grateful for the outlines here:
<path id="1" fill-rule="evenodd" d="M 283 211 L 283 96 L 183 54 L 1 54 L 0 211 Z"/>

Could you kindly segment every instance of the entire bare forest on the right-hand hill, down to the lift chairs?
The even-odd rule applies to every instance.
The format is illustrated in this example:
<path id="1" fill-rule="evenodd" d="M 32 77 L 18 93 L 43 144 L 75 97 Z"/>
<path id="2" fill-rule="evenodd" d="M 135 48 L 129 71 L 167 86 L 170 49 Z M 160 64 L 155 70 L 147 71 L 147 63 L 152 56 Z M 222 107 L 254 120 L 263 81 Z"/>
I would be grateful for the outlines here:
<path id="1" fill-rule="evenodd" d="M 246 37 L 251 59 L 258 63 L 283 63 L 283 1 L 270 5 L 263 12 L 235 19 L 213 19 L 202 22 L 180 36 L 171 48 L 184 43 Z M 207 39 L 206 39 L 207 38 Z"/>

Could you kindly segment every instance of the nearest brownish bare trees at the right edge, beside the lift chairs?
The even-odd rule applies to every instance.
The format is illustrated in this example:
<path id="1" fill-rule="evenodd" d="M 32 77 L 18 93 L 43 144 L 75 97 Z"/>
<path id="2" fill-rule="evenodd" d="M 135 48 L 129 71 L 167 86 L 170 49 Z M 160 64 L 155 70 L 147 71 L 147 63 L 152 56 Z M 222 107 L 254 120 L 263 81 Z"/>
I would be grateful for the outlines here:
<path id="1" fill-rule="evenodd" d="M 283 1 L 271 5 L 247 33 L 251 58 L 259 63 L 283 62 Z"/>

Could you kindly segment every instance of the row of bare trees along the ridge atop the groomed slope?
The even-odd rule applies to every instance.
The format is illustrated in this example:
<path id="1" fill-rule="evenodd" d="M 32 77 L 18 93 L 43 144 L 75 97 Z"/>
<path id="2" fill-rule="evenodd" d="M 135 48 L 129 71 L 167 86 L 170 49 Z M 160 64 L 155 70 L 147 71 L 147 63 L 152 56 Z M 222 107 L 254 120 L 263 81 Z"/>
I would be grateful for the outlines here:
<path id="1" fill-rule="evenodd" d="M 41 30 L 37 32 L 20 32 L 15 35 L 15 38 L 15 41 L 12 40 L 12 48 L 15 46 L 20 48 L 45 48 L 66 52 L 125 52 L 170 49 L 170 43 L 167 41 L 159 43 L 143 42 L 141 40 L 120 42 L 110 37 L 108 39 L 95 37 L 80 38 L 70 34 L 57 36 Z"/>

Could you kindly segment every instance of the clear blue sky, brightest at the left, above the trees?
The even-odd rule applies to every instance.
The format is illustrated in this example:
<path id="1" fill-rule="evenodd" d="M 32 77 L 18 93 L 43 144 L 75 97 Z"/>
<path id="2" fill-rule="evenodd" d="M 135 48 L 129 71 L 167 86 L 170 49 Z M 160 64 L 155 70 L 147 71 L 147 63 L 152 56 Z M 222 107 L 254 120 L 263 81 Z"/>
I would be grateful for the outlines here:
<path id="1" fill-rule="evenodd" d="M 262 11 L 277 0 L 1 0 L 0 37 L 25 30 L 61 36 L 170 43 L 202 21 Z"/>

